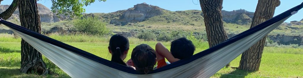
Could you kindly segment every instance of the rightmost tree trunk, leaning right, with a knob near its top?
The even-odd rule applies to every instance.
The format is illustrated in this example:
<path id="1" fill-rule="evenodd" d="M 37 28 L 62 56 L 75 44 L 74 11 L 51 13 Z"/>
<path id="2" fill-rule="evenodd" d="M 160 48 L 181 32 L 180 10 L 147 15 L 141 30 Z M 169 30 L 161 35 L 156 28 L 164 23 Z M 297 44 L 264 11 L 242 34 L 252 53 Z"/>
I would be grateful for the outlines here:
<path id="1" fill-rule="evenodd" d="M 259 0 L 250 28 L 272 18 L 276 7 L 279 5 L 279 0 Z M 248 71 L 259 70 L 265 39 L 266 36 L 242 54 L 238 69 Z"/>

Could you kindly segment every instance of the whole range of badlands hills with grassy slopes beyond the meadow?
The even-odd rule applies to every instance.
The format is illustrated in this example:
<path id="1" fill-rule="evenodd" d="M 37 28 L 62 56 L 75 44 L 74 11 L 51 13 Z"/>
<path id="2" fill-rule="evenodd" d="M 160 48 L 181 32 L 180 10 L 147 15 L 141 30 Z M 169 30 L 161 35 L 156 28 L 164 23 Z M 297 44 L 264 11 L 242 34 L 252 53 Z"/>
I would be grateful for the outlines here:
<path id="1" fill-rule="evenodd" d="M 0 13 L 5 11 L 9 5 L 0 5 Z M 68 32 L 72 22 L 63 21 L 68 16 L 60 14 L 60 18 L 52 13 L 50 9 L 42 4 L 38 4 L 41 16 L 42 32 L 44 33 L 64 33 Z M 170 11 L 161 7 L 146 3 L 136 4 L 127 10 L 118 10 L 112 13 L 83 13 L 84 17 L 94 17 L 106 22 L 109 29 L 115 33 L 125 33 L 128 37 L 135 36 L 137 32 L 145 29 L 155 29 L 162 32 L 184 31 L 194 33 L 205 33 L 204 18 L 201 10 Z M 254 12 L 244 9 L 226 11 L 222 10 L 223 21 L 228 35 L 231 37 L 249 29 Z M 71 19 L 72 20 L 72 19 Z M 8 19 L 8 21 L 20 25 L 18 9 Z M 60 22 L 62 21 L 62 22 Z M 54 23 L 55 22 L 55 23 Z M 303 19 L 282 23 L 268 37 L 279 44 L 299 44 L 303 45 Z M 0 26 L 0 33 L 13 33 L 5 26 Z"/>

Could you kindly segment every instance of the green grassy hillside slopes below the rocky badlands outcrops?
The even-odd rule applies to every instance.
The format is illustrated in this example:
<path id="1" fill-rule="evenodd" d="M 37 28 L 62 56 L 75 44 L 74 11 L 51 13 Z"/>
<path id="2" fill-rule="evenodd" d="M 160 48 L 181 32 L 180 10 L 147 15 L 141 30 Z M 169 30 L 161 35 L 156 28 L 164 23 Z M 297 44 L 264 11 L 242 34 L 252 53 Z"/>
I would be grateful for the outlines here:
<path id="1" fill-rule="evenodd" d="M 125 26 L 115 26 L 113 24 L 109 24 L 111 19 L 119 19 L 125 11 L 126 10 L 119 10 L 112 13 L 84 13 L 83 16 L 94 16 L 95 18 L 99 18 L 100 21 L 107 23 L 107 27 L 113 32 L 138 33 L 142 30 L 152 30 L 162 32 L 183 31 L 205 34 L 204 18 L 201 16 L 202 11 L 200 10 L 162 10 L 161 15 L 147 18 L 142 22 L 128 23 Z M 19 21 L 13 19 L 8 21 L 20 25 Z M 72 20 L 65 20 L 55 23 L 42 22 L 42 32 L 49 31 L 54 27 L 62 27 L 64 29 L 72 28 L 72 23 Z M 0 26 L 0 28 L 3 27 L 5 26 Z M 228 34 L 239 34 L 249 29 L 250 25 L 238 25 L 224 22 L 224 27 Z M 303 32 L 303 26 L 279 26 L 277 29 L 271 32 L 270 35 L 303 35 L 303 33 L 299 32 Z"/>

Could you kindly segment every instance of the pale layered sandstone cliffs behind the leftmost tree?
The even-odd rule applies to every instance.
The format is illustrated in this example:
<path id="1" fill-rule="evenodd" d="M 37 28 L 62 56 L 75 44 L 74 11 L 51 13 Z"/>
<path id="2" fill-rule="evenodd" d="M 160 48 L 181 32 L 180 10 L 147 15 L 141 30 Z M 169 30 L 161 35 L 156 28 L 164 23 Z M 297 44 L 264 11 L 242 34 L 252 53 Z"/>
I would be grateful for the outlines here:
<path id="1" fill-rule="evenodd" d="M 4 12 L 9 6 L 10 5 L 0 5 L 0 13 Z M 58 17 L 55 13 L 52 13 L 50 9 L 48 9 L 42 4 L 38 3 L 37 6 L 38 6 L 41 22 L 59 22 L 69 18 L 69 16 L 65 16 L 63 14 L 60 14 Z M 18 8 L 15 10 L 15 12 L 12 14 L 12 16 L 9 19 L 15 19 L 19 21 Z"/>

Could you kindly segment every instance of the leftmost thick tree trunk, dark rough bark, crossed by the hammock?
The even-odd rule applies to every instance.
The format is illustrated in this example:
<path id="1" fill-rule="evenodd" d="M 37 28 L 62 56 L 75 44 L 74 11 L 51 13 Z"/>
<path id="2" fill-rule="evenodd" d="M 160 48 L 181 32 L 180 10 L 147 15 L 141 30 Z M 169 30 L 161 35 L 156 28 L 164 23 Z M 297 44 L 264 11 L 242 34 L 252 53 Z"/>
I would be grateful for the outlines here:
<path id="1" fill-rule="evenodd" d="M 41 33 L 40 15 L 36 0 L 20 0 L 19 12 L 21 26 Z M 23 39 L 21 41 L 21 68 L 22 73 L 48 73 L 46 65 L 42 60 L 42 54 L 30 46 Z"/>

